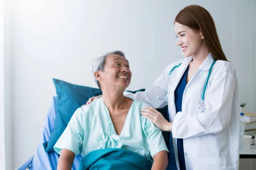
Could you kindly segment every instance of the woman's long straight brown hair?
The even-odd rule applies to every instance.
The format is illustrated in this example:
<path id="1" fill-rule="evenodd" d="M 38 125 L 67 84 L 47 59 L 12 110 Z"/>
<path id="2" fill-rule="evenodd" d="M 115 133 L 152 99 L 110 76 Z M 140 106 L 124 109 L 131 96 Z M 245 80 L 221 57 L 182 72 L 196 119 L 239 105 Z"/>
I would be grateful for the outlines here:
<path id="1" fill-rule="evenodd" d="M 188 26 L 194 31 L 201 31 L 212 57 L 227 61 L 212 16 L 205 8 L 197 5 L 187 6 L 177 14 L 175 22 Z"/>

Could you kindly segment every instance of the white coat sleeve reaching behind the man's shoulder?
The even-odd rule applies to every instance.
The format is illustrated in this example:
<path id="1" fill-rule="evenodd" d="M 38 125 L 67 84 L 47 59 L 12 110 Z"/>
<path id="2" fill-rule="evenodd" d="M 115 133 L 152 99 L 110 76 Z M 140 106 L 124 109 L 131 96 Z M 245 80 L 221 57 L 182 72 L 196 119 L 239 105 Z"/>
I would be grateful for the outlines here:
<path id="1" fill-rule="evenodd" d="M 177 62 L 179 63 L 180 61 L 177 61 Z M 170 64 L 163 71 L 163 73 L 154 81 L 154 84 L 151 85 L 150 88 L 146 88 L 145 91 L 138 91 L 135 94 L 125 91 L 124 95 L 131 99 L 136 99 L 136 100 L 140 100 L 142 102 L 148 103 L 154 108 L 165 107 L 166 105 L 168 105 L 168 102 L 165 100 L 158 99 L 157 96 L 159 96 L 160 98 L 163 98 L 163 96 L 166 96 L 168 85 L 166 85 L 166 88 L 164 86 L 166 84 L 166 80 L 168 78 L 169 72 L 174 66 L 175 66 L 175 62 Z M 169 80 L 169 81 L 172 81 L 172 80 Z"/>

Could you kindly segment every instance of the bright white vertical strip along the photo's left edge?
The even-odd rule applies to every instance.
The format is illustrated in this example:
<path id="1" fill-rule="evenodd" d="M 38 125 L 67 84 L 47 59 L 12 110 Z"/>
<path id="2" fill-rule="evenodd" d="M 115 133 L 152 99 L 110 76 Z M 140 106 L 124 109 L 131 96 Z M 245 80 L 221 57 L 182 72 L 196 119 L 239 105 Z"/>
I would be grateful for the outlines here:
<path id="1" fill-rule="evenodd" d="M 0 1 L 0 167 L 12 169 L 12 57 L 10 2 Z"/>

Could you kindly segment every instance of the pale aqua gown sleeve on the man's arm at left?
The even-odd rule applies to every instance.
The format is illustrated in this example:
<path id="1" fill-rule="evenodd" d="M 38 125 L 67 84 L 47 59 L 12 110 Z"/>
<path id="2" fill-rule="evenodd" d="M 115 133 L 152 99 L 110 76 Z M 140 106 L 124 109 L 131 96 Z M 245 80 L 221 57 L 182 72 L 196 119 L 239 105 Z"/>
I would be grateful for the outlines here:
<path id="1" fill-rule="evenodd" d="M 66 129 L 54 145 L 54 150 L 61 154 L 61 149 L 68 149 L 79 155 L 84 138 L 82 110 L 78 108 L 70 119 Z"/>

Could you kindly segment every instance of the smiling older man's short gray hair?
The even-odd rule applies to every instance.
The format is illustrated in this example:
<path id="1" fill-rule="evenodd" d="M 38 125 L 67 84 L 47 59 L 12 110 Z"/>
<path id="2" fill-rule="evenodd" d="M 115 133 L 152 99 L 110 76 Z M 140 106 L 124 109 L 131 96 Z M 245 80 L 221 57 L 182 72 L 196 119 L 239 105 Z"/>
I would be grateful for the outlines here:
<path id="1" fill-rule="evenodd" d="M 111 51 L 109 53 L 104 54 L 102 57 L 98 57 L 96 59 L 93 59 L 93 61 L 91 62 L 91 71 L 94 74 L 96 71 L 104 71 L 104 66 L 105 66 L 105 58 L 113 55 L 113 54 L 118 54 L 122 57 L 125 57 L 125 54 L 122 51 Z M 98 85 L 99 89 L 100 89 L 100 85 L 99 85 L 99 81 L 94 77 L 94 80 L 96 82 L 96 84 Z"/>

